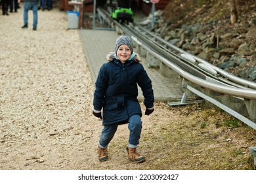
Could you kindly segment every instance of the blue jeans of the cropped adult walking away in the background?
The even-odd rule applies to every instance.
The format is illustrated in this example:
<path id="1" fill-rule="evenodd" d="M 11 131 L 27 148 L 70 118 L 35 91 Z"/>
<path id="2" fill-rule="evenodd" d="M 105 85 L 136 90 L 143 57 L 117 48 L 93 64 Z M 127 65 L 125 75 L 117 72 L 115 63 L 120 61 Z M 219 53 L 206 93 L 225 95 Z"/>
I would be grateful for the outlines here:
<path id="1" fill-rule="evenodd" d="M 24 12 L 23 12 L 23 19 L 24 25 L 28 25 L 28 10 L 33 11 L 33 27 L 37 27 L 37 10 L 38 10 L 38 2 L 24 2 Z"/>

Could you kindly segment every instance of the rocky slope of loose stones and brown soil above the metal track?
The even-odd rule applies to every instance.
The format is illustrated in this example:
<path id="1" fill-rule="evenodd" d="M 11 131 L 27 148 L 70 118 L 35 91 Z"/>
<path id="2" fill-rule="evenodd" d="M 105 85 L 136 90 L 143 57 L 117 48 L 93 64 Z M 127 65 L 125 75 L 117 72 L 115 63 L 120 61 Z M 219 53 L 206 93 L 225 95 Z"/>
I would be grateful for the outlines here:
<path id="1" fill-rule="evenodd" d="M 156 12 L 153 31 L 228 73 L 256 82 L 255 8 L 255 0 L 240 0 L 238 21 L 231 24 L 226 1 L 173 0 Z"/>

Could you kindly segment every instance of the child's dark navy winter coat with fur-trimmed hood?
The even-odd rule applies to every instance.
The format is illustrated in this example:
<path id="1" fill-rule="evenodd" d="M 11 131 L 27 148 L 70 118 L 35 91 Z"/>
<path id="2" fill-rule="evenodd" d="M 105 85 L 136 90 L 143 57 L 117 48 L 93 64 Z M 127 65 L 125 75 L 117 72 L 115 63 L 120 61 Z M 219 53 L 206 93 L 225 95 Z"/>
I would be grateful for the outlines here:
<path id="1" fill-rule="evenodd" d="M 93 99 L 95 110 L 103 108 L 102 124 L 124 124 L 134 114 L 141 117 L 137 84 L 142 90 L 146 108 L 154 107 L 154 92 L 148 74 L 139 63 L 140 57 L 135 54 L 133 59 L 121 63 L 114 52 L 110 52 L 107 59 L 98 72 Z"/>

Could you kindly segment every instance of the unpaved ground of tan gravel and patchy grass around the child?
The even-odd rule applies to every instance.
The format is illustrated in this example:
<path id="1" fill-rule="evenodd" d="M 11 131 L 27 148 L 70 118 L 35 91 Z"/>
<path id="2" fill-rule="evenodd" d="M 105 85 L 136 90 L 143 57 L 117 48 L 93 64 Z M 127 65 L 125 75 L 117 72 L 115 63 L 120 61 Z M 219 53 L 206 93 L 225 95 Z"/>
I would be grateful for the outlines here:
<path id="1" fill-rule="evenodd" d="M 21 29 L 22 12 L 0 16 L 1 170 L 254 169 L 254 129 L 218 108 L 167 102 L 142 116 L 144 163 L 127 158 L 127 125 L 110 143 L 110 160 L 100 163 L 102 125 L 91 114 L 94 83 L 78 31 L 66 29 L 58 9 L 39 10 L 37 31 L 30 12 L 29 28 Z"/>

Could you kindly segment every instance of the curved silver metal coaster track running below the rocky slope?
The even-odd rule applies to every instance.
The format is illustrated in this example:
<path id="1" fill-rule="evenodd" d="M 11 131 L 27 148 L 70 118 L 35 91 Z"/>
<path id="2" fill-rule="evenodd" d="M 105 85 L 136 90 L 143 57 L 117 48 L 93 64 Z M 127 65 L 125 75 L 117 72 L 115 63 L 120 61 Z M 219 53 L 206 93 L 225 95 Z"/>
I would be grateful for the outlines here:
<path id="1" fill-rule="evenodd" d="M 100 10 L 109 14 L 105 10 Z M 226 73 L 164 41 L 150 31 L 133 24 L 113 21 L 116 29 L 129 35 L 141 48 L 150 52 L 162 65 L 180 75 L 184 95 L 194 93 L 217 105 L 245 124 L 256 129 L 256 83 Z"/>

